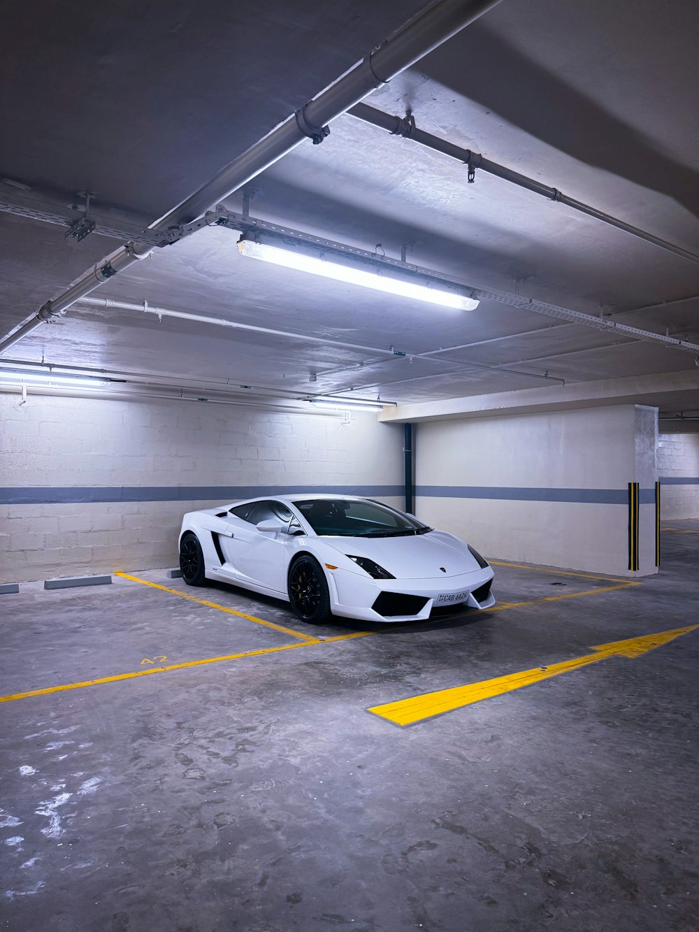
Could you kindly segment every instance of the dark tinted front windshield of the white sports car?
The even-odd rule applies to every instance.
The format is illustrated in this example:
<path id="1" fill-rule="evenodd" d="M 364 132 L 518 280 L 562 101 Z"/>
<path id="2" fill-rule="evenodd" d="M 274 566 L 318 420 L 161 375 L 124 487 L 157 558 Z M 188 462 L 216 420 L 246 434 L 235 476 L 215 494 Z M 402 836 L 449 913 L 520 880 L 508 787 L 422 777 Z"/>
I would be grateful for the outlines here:
<path id="1" fill-rule="evenodd" d="M 409 514 L 365 499 L 305 499 L 294 502 L 311 528 L 322 537 L 404 537 L 432 528 Z"/>

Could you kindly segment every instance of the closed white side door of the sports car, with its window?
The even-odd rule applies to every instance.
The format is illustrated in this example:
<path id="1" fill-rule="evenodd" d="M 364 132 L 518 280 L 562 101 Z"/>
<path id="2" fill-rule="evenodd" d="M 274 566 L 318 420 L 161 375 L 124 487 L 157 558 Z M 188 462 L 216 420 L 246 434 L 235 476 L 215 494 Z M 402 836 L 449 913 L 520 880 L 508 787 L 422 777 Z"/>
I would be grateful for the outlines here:
<path id="1" fill-rule="evenodd" d="M 257 530 L 255 525 L 269 518 L 290 521 L 292 513 L 281 501 L 257 501 L 244 511 L 230 514 L 228 529 L 231 536 L 221 536 L 221 549 L 229 567 L 226 570 L 240 580 L 270 589 L 286 592 L 285 547 L 290 539 L 286 534 L 273 534 Z M 240 516 L 244 514 L 244 517 Z"/>

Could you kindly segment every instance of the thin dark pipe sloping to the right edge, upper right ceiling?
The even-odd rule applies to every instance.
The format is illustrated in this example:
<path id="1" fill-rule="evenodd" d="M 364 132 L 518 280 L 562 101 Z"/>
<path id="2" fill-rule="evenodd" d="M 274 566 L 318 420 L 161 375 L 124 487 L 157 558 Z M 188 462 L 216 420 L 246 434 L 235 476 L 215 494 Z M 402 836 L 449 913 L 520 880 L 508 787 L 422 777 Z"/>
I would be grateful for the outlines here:
<path id="1" fill-rule="evenodd" d="M 690 262 L 699 263 L 699 255 L 691 253 L 688 249 L 683 249 L 681 246 L 676 246 L 674 243 L 668 242 L 667 240 L 661 240 L 660 237 L 653 236 L 652 233 L 639 229 L 637 226 L 627 224 L 624 220 L 619 220 L 617 217 L 611 216 L 610 213 L 599 211 L 596 207 L 584 204 L 582 200 L 569 198 L 568 195 L 563 194 L 563 192 L 557 190 L 557 188 L 550 187 L 549 185 L 542 185 L 541 182 L 535 181 L 533 178 L 528 178 L 527 175 L 505 168 L 504 165 L 499 165 L 489 158 L 483 158 L 478 152 L 472 152 L 471 149 L 463 149 L 459 145 L 449 143 L 444 139 L 440 139 L 438 136 L 433 136 L 430 132 L 419 130 L 412 119 L 392 117 L 390 114 L 385 114 L 375 107 L 370 107 L 366 103 L 357 103 L 355 106 L 351 107 L 348 112 L 352 117 L 363 120 L 364 123 L 371 123 L 381 130 L 388 130 L 391 135 L 412 139 L 413 142 L 433 149 L 435 152 L 441 152 L 449 158 L 455 158 L 459 162 L 464 162 L 469 166 L 470 171 L 474 171 L 475 169 L 487 171 L 488 174 L 495 175 L 503 181 L 509 181 L 513 185 L 524 187 L 534 194 L 541 195 L 542 198 L 559 201 L 561 204 L 566 204 L 567 207 L 571 207 L 575 211 L 586 213 L 587 216 L 594 217 L 596 220 L 601 220 L 603 223 L 609 224 L 609 226 L 615 226 L 617 229 L 624 230 L 624 233 L 630 233 L 639 240 L 645 240 L 646 242 L 652 243 L 654 246 L 659 246 L 668 253 L 674 253 L 683 259 L 689 259 Z"/>

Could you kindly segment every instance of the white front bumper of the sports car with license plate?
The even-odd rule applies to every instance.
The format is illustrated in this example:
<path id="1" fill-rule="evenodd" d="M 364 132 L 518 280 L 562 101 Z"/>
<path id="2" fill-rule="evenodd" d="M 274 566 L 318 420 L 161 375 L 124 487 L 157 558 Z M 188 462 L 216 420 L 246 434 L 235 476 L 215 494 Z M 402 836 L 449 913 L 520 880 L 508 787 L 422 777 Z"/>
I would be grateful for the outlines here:
<path id="1" fill-rule="evenodd" d="M 448 605 L 489 609 L 495 605 L 489 585 L 494 575 L 486 567 L 425 580 L 373 580 L 338 569 L 328 573 L 331 607 L 335 615 L 365 622 L 424 621 L 432 608 Z"/>

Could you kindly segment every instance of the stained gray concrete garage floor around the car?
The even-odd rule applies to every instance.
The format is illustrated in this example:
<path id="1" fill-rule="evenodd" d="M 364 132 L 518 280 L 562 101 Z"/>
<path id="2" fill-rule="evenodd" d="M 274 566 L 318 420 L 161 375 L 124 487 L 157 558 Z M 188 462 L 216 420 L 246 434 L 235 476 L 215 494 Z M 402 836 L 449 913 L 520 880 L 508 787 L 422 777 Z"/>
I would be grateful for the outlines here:
<path id="1" fill-rule="evenodd" d="M 218 608 L 119 577 L 0 596 L 2 693 L 46 690 L 0 706 L 0 928 L 693 932 L 699 629 L 367 712 L 699 624 L 699 521 L 664 527 L 640 585 L 496 566 L 498 610 L 363 637 L 162 571 Z"/>

